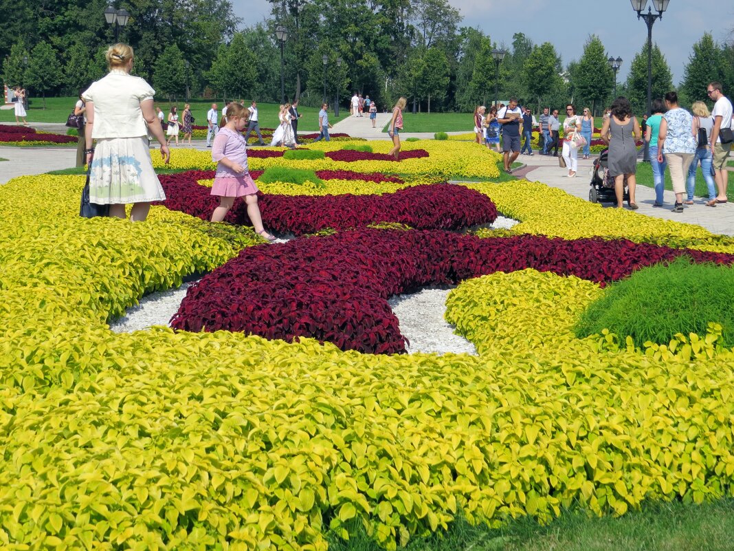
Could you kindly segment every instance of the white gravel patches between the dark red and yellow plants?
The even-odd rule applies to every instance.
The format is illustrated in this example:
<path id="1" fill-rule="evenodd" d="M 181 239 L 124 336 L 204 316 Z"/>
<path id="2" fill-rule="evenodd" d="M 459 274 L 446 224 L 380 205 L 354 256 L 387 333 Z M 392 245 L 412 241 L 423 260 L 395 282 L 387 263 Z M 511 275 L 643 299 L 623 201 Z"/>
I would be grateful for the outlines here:
<path id="1" fill-rule="evenodd" d="M 510 218 L 498 217 L 491 228 L 512 228 L 517 223 Z M 178 311 L 186 289 L 185 283 L 178 289 L 154 292 L 146 295 L 137 306 L 128 308 L 124 317 L 113 321 L 109 327 L 116 333 L 132 333 L 153 325 L 168 325 Z M 410 295 L 397 295 L 388 301 L 400 323 L 400 331 L 409 341 L 409 353 L 468 353 L 476 349 L 464 337 L 454 334 L 454 327 L 446 323 L 446 297 L 450 289 L 421 289 Z"/>

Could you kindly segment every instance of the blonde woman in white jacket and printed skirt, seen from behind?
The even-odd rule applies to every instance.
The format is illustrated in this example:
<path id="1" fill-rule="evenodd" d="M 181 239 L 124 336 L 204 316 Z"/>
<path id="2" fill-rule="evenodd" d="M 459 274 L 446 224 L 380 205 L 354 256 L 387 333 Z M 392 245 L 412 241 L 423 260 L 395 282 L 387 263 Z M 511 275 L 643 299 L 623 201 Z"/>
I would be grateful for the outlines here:
<path id="1" fill-rule="evenodd" d="M 139 222 L 148 217 L 151 202 L 166 198 L 150 159 L 148 131 L 161 144 L 166 163 L 170 151 L 153 109 L 155 90 L 130 74 L 133 48 L 115 44 L 106 58 L 107 76 L 81 94 L 87 104 L 90 202 L 109 205 L 109 215 L 118 218 L 125 218 L 125 205 L 133 204 L 130 220 Z"/>

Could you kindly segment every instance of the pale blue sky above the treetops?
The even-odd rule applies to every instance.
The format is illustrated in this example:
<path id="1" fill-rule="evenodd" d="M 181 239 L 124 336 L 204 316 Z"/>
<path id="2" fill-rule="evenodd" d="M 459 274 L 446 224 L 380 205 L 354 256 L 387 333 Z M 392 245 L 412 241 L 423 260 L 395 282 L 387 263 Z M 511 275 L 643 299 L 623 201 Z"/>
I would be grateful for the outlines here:
<path id="1" fill-rule="evenodd" d="M 515 32 L 524 32 L 536 44 L 551 42 L 564 65 L 578 60 L 589 35 L 597 35 L 608 55 L 623 60 L 619 82 L 627 79 L 632 58 L 647 40 L 647 26 L 637 19 L 629 0 L 449 1 L 464 17 L 463 25 L 478 27 L 492 40 L 506 45 L 512 45 Z M 652 6 L 653 1 L 647 4 Z M 244 25 L 250 26 L 266 18 L 271 4 L 266 0 L 233 0 L 233 6 Z M 573 29 L 571 35 L 569 29 Z M 683 79 L 691 46 L 704 32 L 711 32 L 714 40 L 723 42 L 732 38 L 733 30 L 732 0 L 670 0 L 663 18 L 653 25 L 653 42 L 663 51 L 677 85 Z"/>

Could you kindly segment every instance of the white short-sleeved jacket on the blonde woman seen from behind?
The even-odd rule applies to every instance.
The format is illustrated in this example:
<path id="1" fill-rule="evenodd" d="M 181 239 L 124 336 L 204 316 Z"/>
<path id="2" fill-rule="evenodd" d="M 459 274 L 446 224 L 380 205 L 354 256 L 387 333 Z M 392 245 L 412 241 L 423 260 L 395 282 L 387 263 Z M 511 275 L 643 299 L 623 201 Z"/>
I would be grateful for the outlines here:
<path id="1" fill-rule="evenodd" d="M 94 103 L 92 138 L 139 137 L 148 135 L 140 102 L 153 99 L 156 91 L 145 79 L 122 69 L 112 69 L 81 94 Z"/>

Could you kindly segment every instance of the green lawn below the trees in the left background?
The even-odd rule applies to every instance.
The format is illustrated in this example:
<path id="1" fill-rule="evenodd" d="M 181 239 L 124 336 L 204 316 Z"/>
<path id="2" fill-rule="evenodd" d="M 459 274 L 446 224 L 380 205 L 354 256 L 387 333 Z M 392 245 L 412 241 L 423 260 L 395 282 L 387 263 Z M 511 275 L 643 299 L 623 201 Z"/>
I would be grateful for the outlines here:
<path id="1" fill-rule="evenodd" d="M 76 104 L 76 96 L 67 96 L 62 98 L 46 98 L 46 109 L 43 109 L 42 98 L 31 98 L 28 106 L 28 117 L 29 123 L 65 123 L 71 108 Z M 221 99 L 215 100 L 219 106 L 219 115 L 222 115 L 222 101 Z M 250 98 L 244 98 L 245 107 L 250 105 Z M 178 106 L 178 110 L 183 109 L 185 101 L 176 101 L 173 103 Z M 195 125 L 206 126 L 206 113 L 211 108 L 211 104 L 214 103 L 212 100 L 205 99 L 192 99 L 189 101 L 191 104 L 192 113 L 196 119 Z M 170 109 L 169 102 L 167 100 L 156 101 L 164 112 L 168 112 Z M 264 128 L 275 128 L 278 125 L 278 104 L 260 104 L 258 103 L 258 115 L 260 120 L 260 126 Z M 319 131 L 319 108 L 316 107 L 299 107 L 298 111 L 303 115 L 299 120 L 298 129 L 299 131 L 307 132 L 318 132 Z M 332 123 L 338 122 L 344 118 L 344 114 L 349 115 L 349 111 L 340 112 L 339 117 L 335 117 L 333 112 L 329 114 L 329 120 Z M 15 123 L 15 115 L 12 109 L 5 109 L 0 111 L 0 123 Z"/>

